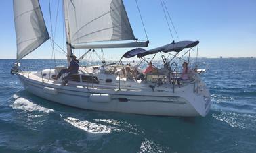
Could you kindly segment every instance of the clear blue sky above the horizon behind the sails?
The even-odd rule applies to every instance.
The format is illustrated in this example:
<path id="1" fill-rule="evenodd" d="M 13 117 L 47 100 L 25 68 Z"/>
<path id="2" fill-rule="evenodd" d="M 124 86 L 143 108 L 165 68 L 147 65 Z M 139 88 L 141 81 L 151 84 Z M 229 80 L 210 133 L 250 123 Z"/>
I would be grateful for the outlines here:
<path id="1" fill-rule="evenodd" d="M 54 40 L 63 47 L 62 1 L 51 1 Z M 56 22 L 57 8 L 58 17 Z M 104 0 L 102 0 L 104 1 Z M 39 0 L 47 29 L 51 36 L 49 1 Z M 147 49 L 172 42 L 160 0 L 137 0 L 150 44 Z M 123 0 L 133 33 L 139 40 L 147 40 L 135 0 Z M 165 0 L 180 40 L 199 40 L 198 57 L 256 57 L 256 1 L 255 0 Z M 16 34 L 11 0 L 1 0 L 0 59 L 16 59 Z M 170 25 L 171 26 L 171 25 Z M 175 42 L 179 41 L 171 27 Z M 60 49 L 59 49 L 60 50 Z M 119 59 L 129 49 L 105 49 L 106 59 Z M 56 59 L 64 55 L 56 51 Z M 77 55 L 85 49 L 75 51 Z M 51 59 L 50 40 L 30 53 L 26 59 Z"/>

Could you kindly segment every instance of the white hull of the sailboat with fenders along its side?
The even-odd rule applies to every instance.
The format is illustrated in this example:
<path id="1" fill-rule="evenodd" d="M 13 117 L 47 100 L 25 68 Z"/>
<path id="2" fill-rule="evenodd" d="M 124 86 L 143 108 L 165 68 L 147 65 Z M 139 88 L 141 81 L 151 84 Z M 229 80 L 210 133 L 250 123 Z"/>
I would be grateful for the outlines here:
<path id="1" fill-rule="evenodd" d="M 143 115 L 163 116 L 205 116 L 211 106 L 210 100 L 204 100 L 204 95 L 191 92 L 193 86 L 187 86 L 184 91 L 157 92 L 145 90 L 100 90 L 88 86 L 62 86 L 41 78 L 33 73 L 17 73 L 24 88 L 52 102 L 73 106 L 80 109 L 95 111 L 111 111 L 119 113 L 135 113 Z M 207 93 L 209 94 L 209 93 Z"/>

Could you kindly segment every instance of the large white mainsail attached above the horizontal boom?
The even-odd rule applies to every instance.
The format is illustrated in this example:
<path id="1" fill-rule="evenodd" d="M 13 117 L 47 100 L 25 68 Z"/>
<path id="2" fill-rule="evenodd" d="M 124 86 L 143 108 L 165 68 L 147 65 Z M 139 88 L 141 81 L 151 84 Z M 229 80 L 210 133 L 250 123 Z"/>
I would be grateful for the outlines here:
<path id="1" fill-rule="evenodd" d="M 71 44 L 134 40 L 123 1 L 64 0 Z"/>

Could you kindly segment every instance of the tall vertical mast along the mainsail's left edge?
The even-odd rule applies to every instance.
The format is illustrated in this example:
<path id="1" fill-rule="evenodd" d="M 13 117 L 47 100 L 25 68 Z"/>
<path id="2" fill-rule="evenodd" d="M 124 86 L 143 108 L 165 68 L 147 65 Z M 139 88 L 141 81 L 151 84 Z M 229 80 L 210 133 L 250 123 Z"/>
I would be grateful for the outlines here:
<path id="1" fill-rule="evenodd" d="M 66 49 L 67 49 L 66 58 L 68 60 L 68 66 L 69 66 L 69 63 L 71 61 L 70 55 L 72 53 L 71 38 L 70 38 L 70 27 L 69 27 L 69 20 L 68 20 L 68 12 L 65 11 L 65 10 L 67 10 L 67 6 L 66 6 L 66 3 L 64 2 L 64 0 L 62 1 L 62 3 L 63 3 L 63 7 L 64 7 L 63 11 L 64 11 L 65 30 L 66 30 Z"/>

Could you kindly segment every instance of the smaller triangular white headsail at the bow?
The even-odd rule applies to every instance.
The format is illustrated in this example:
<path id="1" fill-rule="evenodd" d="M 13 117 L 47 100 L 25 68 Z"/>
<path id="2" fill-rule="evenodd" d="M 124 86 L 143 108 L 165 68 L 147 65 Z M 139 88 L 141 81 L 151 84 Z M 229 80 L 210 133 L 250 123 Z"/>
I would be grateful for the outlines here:
<path id="1" fill-rule="evenodd" d="M 38 0 L 14 0 L 14 22 L 18 60 L 49 39 Z"/>

